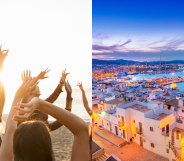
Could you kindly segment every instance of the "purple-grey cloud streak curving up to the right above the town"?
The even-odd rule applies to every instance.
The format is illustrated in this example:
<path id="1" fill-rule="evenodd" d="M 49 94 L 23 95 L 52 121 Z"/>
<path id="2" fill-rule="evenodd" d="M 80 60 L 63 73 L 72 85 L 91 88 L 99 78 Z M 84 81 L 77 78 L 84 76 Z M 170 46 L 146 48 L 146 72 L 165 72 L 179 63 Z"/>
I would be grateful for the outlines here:
<path id="1" fill-rule="evenodd" d="M 97 51 L 104 51 L 104 50 L 108 50 L 108 51 L 117 51 L 119 50 L 120 48 L 124 47 L 126 44 L 130 43 L 131 40 L 127 40 L 125 43 L 123 44 L 115 44 L 115 45 L 112 45 L 112 46 L 103 46 L 103 45 L 93 45 L 92 46 L 92 49 L 93 50 L 97 50 Z"/>

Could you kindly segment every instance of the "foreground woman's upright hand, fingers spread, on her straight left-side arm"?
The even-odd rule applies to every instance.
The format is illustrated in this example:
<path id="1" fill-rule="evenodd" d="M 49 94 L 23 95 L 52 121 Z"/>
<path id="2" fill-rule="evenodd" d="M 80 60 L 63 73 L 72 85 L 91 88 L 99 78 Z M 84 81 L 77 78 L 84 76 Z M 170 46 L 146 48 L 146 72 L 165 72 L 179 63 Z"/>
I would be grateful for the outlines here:
<path id="1" fill-rule="evenodd" d="M 34 85 L 32 85 L 34 81 L 35 81 L 35 78 L 32 79 L 31 77 L 27 81 L 26 79 L 24 79 L 22 85 L 16 91 L 15 96 L 19 97 L 20 99 L 27 96 L 29 92 L 31 92 L 39 83 L 39 82 L 36 82 L 34 83 Z"/>

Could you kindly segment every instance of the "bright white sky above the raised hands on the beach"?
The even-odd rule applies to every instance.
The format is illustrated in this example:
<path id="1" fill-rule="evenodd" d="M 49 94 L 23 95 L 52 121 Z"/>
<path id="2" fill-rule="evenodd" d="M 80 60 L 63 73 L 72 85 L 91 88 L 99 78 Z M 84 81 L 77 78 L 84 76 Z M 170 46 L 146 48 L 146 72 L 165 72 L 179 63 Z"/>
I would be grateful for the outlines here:
<path id="1" fill-rule="evenodd" d="M 78 88 L 77 81 L 91 88 L 91 0 L 6 0 L 0 6 L 0 44 L 9 49 L 1 75 L 6 100 L 14 95 L 26 69 L 32 76 L 51 69 L 49 79 L 39 84 L 51 92 L 65 68 L 72 88 Z"/>

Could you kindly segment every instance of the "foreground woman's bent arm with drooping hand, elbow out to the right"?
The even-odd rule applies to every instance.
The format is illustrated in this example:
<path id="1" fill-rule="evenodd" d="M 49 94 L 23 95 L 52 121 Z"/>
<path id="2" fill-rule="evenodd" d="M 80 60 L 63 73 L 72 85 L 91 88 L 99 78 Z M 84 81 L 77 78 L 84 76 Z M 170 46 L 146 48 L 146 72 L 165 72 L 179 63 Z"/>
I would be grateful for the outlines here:
<path id="1" fill-rule="evenodd" d="M 59 108 L 49 102 L 43 101 L 39 98 L 33 98 L 28 104 L 19 104 L 20 106 L 28 107 L 22 109 L 15 107 L 21 113 L 32 113 L 36 108 L 39 109 L 55 119 L 61 124 L 65 125 L 74 135 L 72 147 L 72 161 L 87 161 L 89 159 L 89 132 L 87 124 L 78 116 Z M 23 121 L 28 116 L 15 116 L 16 121 Z"/>

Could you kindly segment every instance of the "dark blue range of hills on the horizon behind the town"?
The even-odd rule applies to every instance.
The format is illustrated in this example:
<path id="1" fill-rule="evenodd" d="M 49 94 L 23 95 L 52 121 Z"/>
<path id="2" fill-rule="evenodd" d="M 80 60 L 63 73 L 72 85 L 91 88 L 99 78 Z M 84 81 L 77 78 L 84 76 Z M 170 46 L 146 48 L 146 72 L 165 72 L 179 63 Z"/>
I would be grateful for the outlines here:
<path id="1" fill-rule="evenodd" d="M 119 60 L 99 60 L 99 59 L 92 59 L 92 64 L 93 65 L 102 65 L 102 64 L 122 64 L 122 65 L 135 65 L 135 64 L 146 64 L 145 62 L 139 62 L 139 61 L 132 61 L 132 60 L 123 60 L 123 59 L 119 59 Z M 172 60 L 172 61 L 166 61 L 166 64 L 177 64 L 177 63 L 183 63 L 184 64 L 184 60 Z M 160 61 L 152 61 L 152 62 L 147 62 L 147 64 L 160 64 Z M 165 61 L 161 61 L 161 64 L 165 64 Z"/>

